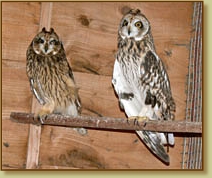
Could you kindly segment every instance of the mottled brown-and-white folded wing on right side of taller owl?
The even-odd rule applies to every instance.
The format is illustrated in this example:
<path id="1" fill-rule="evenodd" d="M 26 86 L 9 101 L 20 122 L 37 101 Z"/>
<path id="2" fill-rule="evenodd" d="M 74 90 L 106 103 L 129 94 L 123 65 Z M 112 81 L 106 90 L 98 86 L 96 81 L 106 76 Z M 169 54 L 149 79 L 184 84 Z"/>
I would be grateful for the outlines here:
<path id="1" fill-rule="evenodd" d="M 140 68 L 141 84 L 146 86 L 145 104 L 151 105 L 157 118 L 173 120 L 175 102 L 172 97 L 168 74 L 162 60 L 155 52 L 148 51 Z"/>

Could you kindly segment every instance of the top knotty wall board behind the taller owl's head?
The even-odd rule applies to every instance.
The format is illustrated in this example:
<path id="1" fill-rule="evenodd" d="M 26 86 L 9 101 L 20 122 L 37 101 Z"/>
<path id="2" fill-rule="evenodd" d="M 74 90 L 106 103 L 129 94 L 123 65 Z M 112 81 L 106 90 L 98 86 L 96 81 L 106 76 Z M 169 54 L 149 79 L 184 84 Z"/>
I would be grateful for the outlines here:
<path id="1" fill-rule="evenodd" d="M 184 59 L 188 56 L 188 51 L 184 53 L 183 50 L 189 45 L 192 4 L 58 2 L 54 3 L 52 26 L 62 38 L 75 71 L 111 75 L 117 50 L 118 25 L 126 9 L 139 8 L 147 16 L 156 49 L 163 60 L 169 62 L 176 61 L 181 53 Z M 170 51 L 171 55 L 167 56 L 166 51 Z"/>

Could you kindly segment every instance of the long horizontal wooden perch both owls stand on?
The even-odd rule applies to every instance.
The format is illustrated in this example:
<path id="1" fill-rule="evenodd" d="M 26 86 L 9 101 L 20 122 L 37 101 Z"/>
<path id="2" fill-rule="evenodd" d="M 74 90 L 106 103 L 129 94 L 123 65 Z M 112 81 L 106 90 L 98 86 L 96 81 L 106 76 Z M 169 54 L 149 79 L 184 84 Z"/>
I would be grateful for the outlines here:
<path id="1" fill-rule="evenodd" d="M 140 119 L 109 118 L 94 116 L 64 116 L 59 114 L 48 115 L 44 120 L 34 117 L 30 113 L 12 112 L 10 119 L 19 123 L 36 125 L 55 125 L 66 127 L 84 127 L 96 129 L 116 130 L 150 130 L 158 132 L 202 133 L 202 122 L 187 121 L 139 121 Z"/>

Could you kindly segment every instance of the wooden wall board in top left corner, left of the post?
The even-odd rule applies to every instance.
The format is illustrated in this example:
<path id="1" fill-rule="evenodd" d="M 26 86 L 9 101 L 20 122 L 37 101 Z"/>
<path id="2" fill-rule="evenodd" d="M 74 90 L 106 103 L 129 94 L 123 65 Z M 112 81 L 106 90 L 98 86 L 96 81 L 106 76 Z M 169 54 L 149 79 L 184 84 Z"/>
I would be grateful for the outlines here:
<path id="1" fill-rule="evenodd" d="M 2 2 L 2 58 L 25 61 L 39 27 L 40 3 Z"/>

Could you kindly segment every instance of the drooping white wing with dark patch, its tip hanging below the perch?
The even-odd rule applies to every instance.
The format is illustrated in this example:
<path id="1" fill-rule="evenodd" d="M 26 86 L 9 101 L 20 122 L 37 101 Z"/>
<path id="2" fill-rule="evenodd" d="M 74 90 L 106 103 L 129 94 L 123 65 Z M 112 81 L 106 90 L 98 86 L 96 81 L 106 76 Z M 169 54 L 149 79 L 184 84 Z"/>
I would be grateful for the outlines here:
<path id="1" fill-rule="evenodd" d="M 122 109 L 128 117 L 139 116 L 143 102 L 140 100 L 140 92 L 134 91 L 133 86 L 129 86 L 122 72 L 122 67 L 118 60 L 115 61 L 112 84 L 118 95 Z M 145 145 L 165 163 L 169 163 L 169 155 L 166 153 L 161 141 L 161 134 L 151 131 L 136 131 Z"/>

